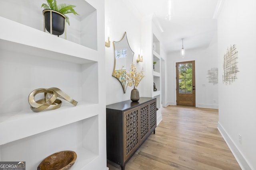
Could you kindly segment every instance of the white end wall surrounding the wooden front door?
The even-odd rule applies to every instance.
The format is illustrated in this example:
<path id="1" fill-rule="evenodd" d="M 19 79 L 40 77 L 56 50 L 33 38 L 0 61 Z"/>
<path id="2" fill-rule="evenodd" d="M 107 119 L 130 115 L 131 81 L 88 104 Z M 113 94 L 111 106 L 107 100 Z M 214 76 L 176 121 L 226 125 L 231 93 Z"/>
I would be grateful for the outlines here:
<path id="1" fill-rule="evenodd" d="M 184 40 L 184 48 L 186 50 L 186 39 Z M 218 108 L 218 85 L 209 83 L 207 78 L 208 70 L 218 67 L 217 34 L 215 34 L 207 49 L 186 50 L 186 56 L 184 59 L 180 57 L 180 51 L 168 54 L 168 104 L 176 105 L 176 63 L 193 60 L 195 61 L 196 74 L 196 107 Z"/>

